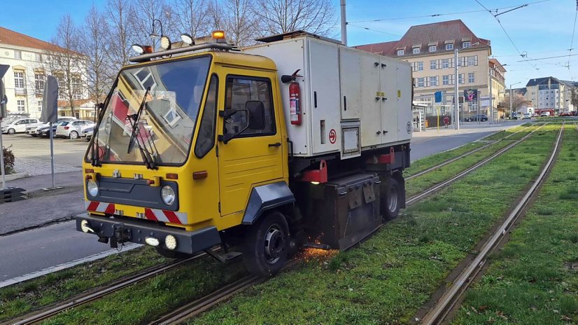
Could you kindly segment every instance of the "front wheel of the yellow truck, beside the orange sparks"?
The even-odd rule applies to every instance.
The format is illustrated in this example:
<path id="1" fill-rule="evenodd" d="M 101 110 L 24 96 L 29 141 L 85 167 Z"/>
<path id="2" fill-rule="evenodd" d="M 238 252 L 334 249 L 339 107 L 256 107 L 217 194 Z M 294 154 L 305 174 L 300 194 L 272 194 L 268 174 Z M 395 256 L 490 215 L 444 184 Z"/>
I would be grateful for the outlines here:
<path id="1" fill-rule="evenodd" d="M 270 212 L 248 229 L 243 243 L 243 261 L 255 275 L 272 277 L 287 262 L 289 226 L 280 212 Z"/>

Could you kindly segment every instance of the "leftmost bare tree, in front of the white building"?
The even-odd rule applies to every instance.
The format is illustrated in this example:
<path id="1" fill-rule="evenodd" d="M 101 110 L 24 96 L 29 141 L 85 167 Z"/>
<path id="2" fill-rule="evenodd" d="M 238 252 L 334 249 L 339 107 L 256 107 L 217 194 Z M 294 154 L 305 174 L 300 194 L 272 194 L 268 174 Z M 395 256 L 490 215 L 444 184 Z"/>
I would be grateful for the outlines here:
<path id="1" fill-rule="evenodd" d="M 80 33 L 70 15 L 62 16 L 52 43 L 62 50 L 48 52 L 48 71 L 58 80 L 59 98 L 66 100 L 72 116 L 76 116 L 75 101 L 83 99 L 87 57 L 80 53 Z"/>

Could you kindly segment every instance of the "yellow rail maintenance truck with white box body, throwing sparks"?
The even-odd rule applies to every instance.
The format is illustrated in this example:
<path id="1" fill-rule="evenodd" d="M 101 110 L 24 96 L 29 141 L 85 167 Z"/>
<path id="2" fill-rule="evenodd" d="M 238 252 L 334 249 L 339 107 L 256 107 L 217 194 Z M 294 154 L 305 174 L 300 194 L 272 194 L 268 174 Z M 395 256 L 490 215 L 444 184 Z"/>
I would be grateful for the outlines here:
<path id="1" fill-rule="evenodd" d="M 397 216 L 409 63 L 302 31 L 181 39 L 134 45 L 100 105 L 77 230 L 273 275 L 300 245 L 345 249 Z"/>

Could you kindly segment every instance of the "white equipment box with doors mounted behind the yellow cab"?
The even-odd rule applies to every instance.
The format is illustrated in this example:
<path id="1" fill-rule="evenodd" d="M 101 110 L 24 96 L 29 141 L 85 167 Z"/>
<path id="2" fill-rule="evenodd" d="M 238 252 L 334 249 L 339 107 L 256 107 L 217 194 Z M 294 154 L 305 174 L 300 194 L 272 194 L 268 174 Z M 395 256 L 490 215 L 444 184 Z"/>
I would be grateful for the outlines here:
<path id="1" fill-rule="evenodd" d="M 295 156 L 361 151 L 403 144 L 413 132 L 411 67 L 408 62 L 348 48 L 313 34 L 243 50 L 272 59 L 278 70 L 287 132 Z M 299 69 L 302 124 L 290 124 L 289 83 L 281 76 Z"/>

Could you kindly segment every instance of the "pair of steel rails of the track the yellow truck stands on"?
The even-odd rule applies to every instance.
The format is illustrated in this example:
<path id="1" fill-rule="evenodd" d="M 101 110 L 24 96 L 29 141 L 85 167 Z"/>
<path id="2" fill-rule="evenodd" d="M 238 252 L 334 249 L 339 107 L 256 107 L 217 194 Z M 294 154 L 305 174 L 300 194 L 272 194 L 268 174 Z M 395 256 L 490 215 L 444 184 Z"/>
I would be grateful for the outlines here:
<path id="1" fill-rule="evenodd" d="M 546 125 L 546 124 L 544 124 L 544 125 Z M 524 136 L 523 138 L 514 141 L 512 144 L 509 144 L 505 148 L 500 149 L 500 151 L 494 153 L 493 155 L 489 156 L 488 158 L 485 158 L 484 160 L 481 160 L 479 163 L 477 163 L 476 165 L 473 165 L 472 167 L 469 167 L 467 170 L 460 172 L 460 174 L 456 175 L 455 177 L 452 177 L 451 179 L 448 179 L 446 181 L 443 181 L 442 183 L 439 183 L 435 186 L 432 186 L 431 188 L 428 188 L 427 190 L 423 191 L 422 193 L 419 193 L 418 195 L 414 195 L 413 197 L 408 198 L 406 200 L 406 205 L 408 205 L 408 206 L 413 205 L 416 202 L 418 202 L 419 200 L 427 197 L 428 195 L 432 195 L 432 193 L 435 193 L 435 192 L 441 190 L 442 188 L 444 188 L 445 186 L 448 186 L 449 184 L 453 183 L 454 181 L 457 181 L 458 179 L 464 177 L 466 174 L 468 174 L 474 170 L 477 170 L 479 167 L 485 165 L 486 163 L 488 163 L 489 161 L 498 157 L 502 153 L 505 153 L 506 151 L 513 148 L 517 144 L 520 144 L 522 141 L 528 139 L 528 137 L 530 137 L 537 130 L 540 130 L 540 128 L 543 127 L 544 125 L 537 127 L 535 130 L 526 134 L 526 136 Z M 521 132 L 521 131 L 519 131 L 519 132 Z M 518 132 L 516 132 L 516 133 L 518 133 Z M 514 133 L 514 134 L 516 134 L 516 133 Z M 510 134 L 508 137 L 512 137 L 514 134 Z M 506 139 L 506 138 L 504 138 L 504 139 Z M 503 139 L 500 139 L 500 141 L 502 141 L 502 140 Z M 497 141 L 495 141 L 491 144 L 495 144 L 496 142 Z M 489 146 L 491 144 L 488 144 L 487 146 Z M 487 146 L 482 146 L 481 148 L 476 148 L 476 149 L 474 149 L 474 151 L 469 151 L 465 155 L 469 155 L 471 153 L 474 153 L 475 151 L 479 151 L 482 148 L 486 148 Z M 465 155 L 460 155 L 460 158 L 463 158 Z M 442 164 L 448 165 L 449 163 L 456 161 L 456 160 L 457 159 L 453 159 L 451 161 L 447 160 L 446 162 L 444 162 Z M 432 168 L 428 169 L 428 172 L 431 172 L 431 171 L 441 167 L 440 165 L 437 165 L 436 167 L 432 167 Z M 420 174 L 420 176 L 423 174 L 425 174 L 425 173 Z M 185 264 L 188 264 L 192 261 L 197 261 L 200 258 L 203 258 L 207 255 L 208 254 L 206 254 L 206 253 L 202 253 L 202 254 L 198 254 L 196 256 L 193 256 L 191 258 L 182 260 L 182 261 L 176 261 L 173 263 L 160 265 L 159 267 L 155 267 L 152 270 L 148 270 L 145 273 L 141 273 L 140 275 L 134 275 L 134 276 L 129 277 L 127 279 L 123 279 L 122 281 L 117 282 L 116 284 L 113 284 L 112 286 L 107 286 L 103 289 L 99 289 L 96 291 L 90 291 L 88 293 L 77 296 L 77 297 L 72 298 L 70 300 L 66 300 L 66 301 L 64 301 L 64 303 L 60 303 L 60 304 L 55 305 L 53 307 L 50 307 L 48 309 L 40 310 L 40 311 L 34 312 L 32 314 L 25 315 L 23 317 L 17 317 L 15 319 L 13 319 L 12 321 L 9 321 L 7 323 L 2 323 L 2 324 L 19 324 L 19 325 L 20 324 L 38 324 L 39 322 L 41 322 L 45 319 L 48 319 L 50 317 L 53 317 L 56 314 L 59 314 L 61 312 L 64 312 L 65 310 L 69 310 L 73 307 L 78 307 L 80 305 L 90 303 L 94 300 L 98 300 L 99 298 L 107 296 L 111 293 L 114 293 L 116 291 L 120 291 L 121 289 L 124 289 L 127 286 L 132 286 L 133 284 L 136 284 L 138 282 L 142 282 L 142 281 L 145 281 L 146 279 L 153 278 L 156 275 L 159 275 L 160 273 L 174 270 L 174 269 L 179 268 L 179 267 L 181 267 Z M 292 263 L 296 263 L 296 260 L 292 260 L 292 261 L 288 262 L 288 265 L 286 266 L 286 268 L 290 265 L 293 265 Z M 243 291 L 244 289 L 247 289 L 248 287 L 251 287 L 255 284 L 264 282 L 266 280 L 267 279 L 265 279 L 265 278 L 255 277 L 255 276 L 243 277 L 243 278 L 241 278 L 235 282 L 232 282 L 230 284 L 227 284 L 226 286 L 223 286 L 221 289 L 218 289 L 216 291 L 213 291 L 212 293 L 209 293 L 208 295 L 206 295 L 202 298 L 199 298 L 195 301 L 192 301 L 191 303 L 188 303 L 187 305 L 183 305 L 183 307 L 179 307 L 174 312 L 170 312 L 169 314 L 164 315 L 160 319 L 157 319 L 157 320 L 151 322 L 150 324 L 174 324 L 177 321 L 181 321 L 183 319 L 193 317 L 193 316 L 195 316 L 201 312 L 204 312 L 205 310 L 208 310 L 209 308 L 220 303 L 221 301 L 226 300 L 227 298 L 230 298 L 231 296 L 234 296 L 236 293 L 239 293 L 239 292 Z"/>

